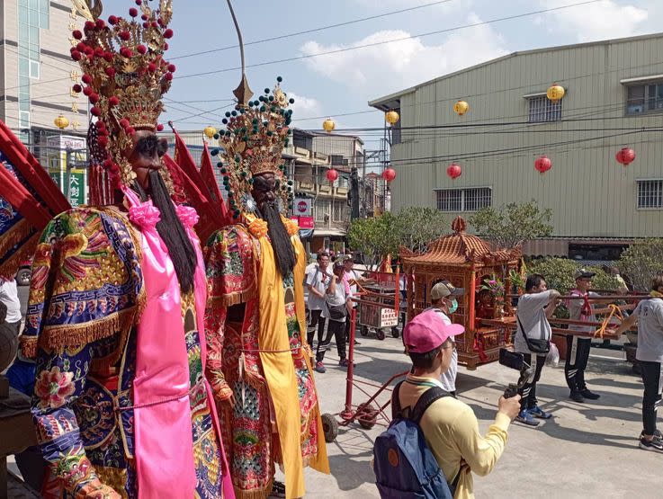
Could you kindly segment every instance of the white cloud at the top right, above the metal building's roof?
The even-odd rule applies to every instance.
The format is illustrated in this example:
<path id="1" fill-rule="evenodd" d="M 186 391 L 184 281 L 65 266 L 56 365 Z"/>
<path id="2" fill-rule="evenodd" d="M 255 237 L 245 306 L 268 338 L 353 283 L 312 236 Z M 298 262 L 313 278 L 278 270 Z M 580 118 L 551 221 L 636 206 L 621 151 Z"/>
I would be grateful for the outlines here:
<path id="1" fill-rule="evenodd" d="M 545 8 L 569 4 L 568 0 L 540 0 Z M 649 9 L 634 4 L 602 0 L 595 4 L 578 5 L 542 16 L 542 25 L 549 32 L 574 34 L 578 41 L 607 40 L 643 34 Z"/>

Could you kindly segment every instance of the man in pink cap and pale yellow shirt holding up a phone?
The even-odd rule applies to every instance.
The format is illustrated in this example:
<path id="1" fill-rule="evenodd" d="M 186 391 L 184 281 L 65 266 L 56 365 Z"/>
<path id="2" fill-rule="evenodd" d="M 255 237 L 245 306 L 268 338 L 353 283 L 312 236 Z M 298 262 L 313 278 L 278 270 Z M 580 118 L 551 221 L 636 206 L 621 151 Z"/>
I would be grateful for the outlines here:
<path id="1" fill-rule="evenodd" d="M 449 369 L 456 343 L 452 337 L 464 327 L 445 324 L 435 310 L 415 316 L 403 332 L 403 341 L 414 369 L 399 388 L 401 408 L 414 407 L 428 388 L 443 388 L 440 375 Z M 454 397 L 438 398 L 421 417 L 419 426 L 454 498 L 474 497 L 470 471 L 480 477 L 495 467 L 506 445 L 507 430 L 520 410 L 520 396 L 500 397 L 495 422 L 482 437 L 470 405 Z"/>

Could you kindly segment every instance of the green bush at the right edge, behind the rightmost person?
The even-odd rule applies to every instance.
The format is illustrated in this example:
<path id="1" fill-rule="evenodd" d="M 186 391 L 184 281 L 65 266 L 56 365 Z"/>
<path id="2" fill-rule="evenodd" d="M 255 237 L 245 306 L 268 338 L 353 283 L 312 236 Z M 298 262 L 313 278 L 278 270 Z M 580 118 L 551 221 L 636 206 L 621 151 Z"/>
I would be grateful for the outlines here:
<path id="1" fill-rule="evenodd" d="M 651 278 L 663 272 L 663 238 L 651 237 L 629 246 L 618 265 L 634 290 L 649 291 Z"/>

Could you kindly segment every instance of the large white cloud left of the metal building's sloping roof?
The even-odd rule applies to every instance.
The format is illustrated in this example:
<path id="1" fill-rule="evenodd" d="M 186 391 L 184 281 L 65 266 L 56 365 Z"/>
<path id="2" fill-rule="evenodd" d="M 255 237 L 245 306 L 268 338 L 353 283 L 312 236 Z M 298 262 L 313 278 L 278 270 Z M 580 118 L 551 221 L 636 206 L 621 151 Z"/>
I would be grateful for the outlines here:
<path id="1" fill-rule="evenodd" d="M 470 14 L 468 23 L 474 22 L 479 22 L 479 18 Z M 426 45 L 427 38 L 418 37 L 379 44 L 409 36 L 411 34 L 403 30 L 377 31 L 347 45 L 308 41 L 300 50 L 310 55 L 378 44 L 306 59 L 306 64 L 317 73 L 354 90 L 370 89 L 372 95 L 417 85 L 506 53 L 504 40 L 488 25 L 455 31 L 439 45 Z"/>

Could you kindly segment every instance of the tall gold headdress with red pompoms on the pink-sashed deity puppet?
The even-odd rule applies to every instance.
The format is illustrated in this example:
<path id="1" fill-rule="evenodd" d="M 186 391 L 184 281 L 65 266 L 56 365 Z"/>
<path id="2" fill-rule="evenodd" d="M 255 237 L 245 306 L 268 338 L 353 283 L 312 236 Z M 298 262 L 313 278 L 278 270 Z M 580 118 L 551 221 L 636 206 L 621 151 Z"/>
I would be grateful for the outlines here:
<path id="1" fill-rule="evenodd" d="M 75 0 L 76 8 L 87 21 L 85 28 L 74 31 L 79 40 L 71 49 L 71 58 L 83 70 L 83 92 L 90 103 L 91 124 L 101 149 L 103 166 L 121 183 L 129 185 L 135 178 L 126 150 L 137 129 L 159 130 L 157 120 L 164 109 L 161 97 L 173 80 L 175 66 L 168 64 L 164 52 L 166 40 L 173 36 L 168 23 L 173 16 L 173 0 L 159 0 L 158 9 L 148 0 L 136 0 L 139 8 L 130 8 L 130 19 L 110 16 L 104 22 L 100 0 Z M 91 145 L 93 146 L 93 145 Z M 97 154 L 99 156 L 99 154 Z"/>

